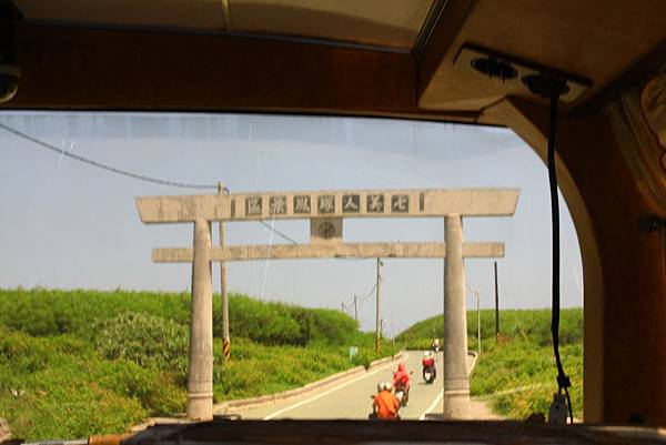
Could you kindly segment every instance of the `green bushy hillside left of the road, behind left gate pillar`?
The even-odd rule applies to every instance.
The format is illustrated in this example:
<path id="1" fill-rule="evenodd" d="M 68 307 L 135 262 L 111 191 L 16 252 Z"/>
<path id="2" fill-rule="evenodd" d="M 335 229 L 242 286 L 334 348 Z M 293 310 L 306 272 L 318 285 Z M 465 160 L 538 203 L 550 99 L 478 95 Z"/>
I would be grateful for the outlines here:
<path id="1" fill-rule="evenodd" d="M 189 294 L 0 290 L 0 417 L 26 439 L 118 433 L 184 411 Z M 301 386 L 375 358 L 372 334 L 332 310 L 230 296 L 232 362 L 214 307 L 214 397 Z M 360 348 L 354 362 L 349 346 Z M 385 344 L 383 354 L 396 352 Z"/>

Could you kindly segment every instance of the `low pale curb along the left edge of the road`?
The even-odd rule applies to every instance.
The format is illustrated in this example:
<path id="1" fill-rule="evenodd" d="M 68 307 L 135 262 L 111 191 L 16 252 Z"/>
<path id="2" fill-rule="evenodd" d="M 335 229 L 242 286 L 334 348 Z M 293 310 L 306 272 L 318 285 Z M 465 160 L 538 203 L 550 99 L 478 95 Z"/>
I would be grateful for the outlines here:
<path id="1" fill-rule="evenodd" d="M 213 413 L 214 414 L 230 414 L 230 413 L 233 413 L 236 411 L 273 405 L 279 402 L 287 401 L 290 398 L 299 397 L 302 395 L 307 395 L 315 391 L 320 391 L 327 386 L 332 386 L 335 383 L 341 383 L 349 378 L 361 375 L 370 370 L 376 368 L 386 363 L 400 360 L 402 356 L 403 356 L 403 352 L 398 352 L 395 355 L 371 362 L 370 367 L 367 370 L 365 368 L 365 366 L 356 366 L 351 370 L 343 371 L 342 373 L 330 375 L 325 378 L 322 378 L 321 381 L 312 382 L 312 383 L 306 384 L 305 386 L 284 391 L 282 393 L 266 394 L 266 395 L 262 395 L 262 396 L 258 396 L 258 397 L 241 398 L 238 401 L 223 402 L 223 403 L 220 403 L 220 404 L 216 404 L 213 406 Z"/>

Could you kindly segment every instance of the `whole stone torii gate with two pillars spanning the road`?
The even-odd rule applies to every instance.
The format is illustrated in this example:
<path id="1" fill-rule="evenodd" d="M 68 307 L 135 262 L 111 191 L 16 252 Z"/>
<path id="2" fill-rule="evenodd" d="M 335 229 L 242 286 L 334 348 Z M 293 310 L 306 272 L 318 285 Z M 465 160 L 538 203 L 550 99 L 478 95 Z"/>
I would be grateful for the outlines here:
<path id="1" fill-rule="evenodd" d="M 193 247 L 154 249 L 155 262 L 192 263 L 186 415 L 213 416 L 211 262 L 262 259 L 443 257 L 444 416 L 465 418 L 470 406 L 464 257 L 504 256 L 504 243 L 463 243 L 463 216 L 511 216 L 518 189 L 353 190 L 137 198 L 141 221 L 194 223 Z M 344 243 L 346 218 L 444 218 L 444 243 Z M 212 246 L 213 221 L 310 219 L 309 244 Z"/>

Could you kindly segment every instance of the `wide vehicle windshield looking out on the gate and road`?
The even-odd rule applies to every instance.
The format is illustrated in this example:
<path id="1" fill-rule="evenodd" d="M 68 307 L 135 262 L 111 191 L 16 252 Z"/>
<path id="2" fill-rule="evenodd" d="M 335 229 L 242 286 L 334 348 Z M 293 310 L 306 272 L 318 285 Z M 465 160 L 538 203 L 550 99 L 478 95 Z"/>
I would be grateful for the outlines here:
<path id="1" fill-rule="evenodd" d="M 547 414 L 557 388 L 547 171 L 511 130 L 174 113 L 3 112 L 0 123 L 0 418 L 14 437 L 79 438 L 182 418 L 208 394 L 191 372 L 206 354 L 214 414 L 367 419 L 385 408 L 435 418 L 454 337 L 446 286 L 460 277 L 465 356 L 448 370 L 470 374 L 467 418 Z M 433 198 L 427 213 L 433 193 L 477 189 L 516 191 L 515 210 L 444 214 Z M 380 215 L 373 193 L 385 200 Z M 193 267 L 193 221 L 144 224 L 135 205 L 194 194 L 229 196 L 220 209 L 244 215 L 204 219 L 211 247 L 221 245 L 220 221 L 224 231 L 223 247 L 203 260 L 210 276 Z M 254 196 L 261 218 L 250 218 Z M 281 216 L 281 196 L 299 218 Z M 297 215 L 299 196 L 320 211 L 333 196 L 339 208 Z M 414 212 L 390 212 L 400 213 L 401 196 Z M 354 205 L 367 218 L 343 213 Z M 583 273 L 562 196 L 561 206 L 562 354 L 579 417 Z M 451 277 L 443 254 L 426 251 L 444 252 L 454 231 L 462 269 Z M 408 257 L 395 253 L 412 247 Z M 210 346 L 196 343 L 191 318 L 205 286 Z M 398 405 L 384 406 L 393 398 L 382 393 Z"/>

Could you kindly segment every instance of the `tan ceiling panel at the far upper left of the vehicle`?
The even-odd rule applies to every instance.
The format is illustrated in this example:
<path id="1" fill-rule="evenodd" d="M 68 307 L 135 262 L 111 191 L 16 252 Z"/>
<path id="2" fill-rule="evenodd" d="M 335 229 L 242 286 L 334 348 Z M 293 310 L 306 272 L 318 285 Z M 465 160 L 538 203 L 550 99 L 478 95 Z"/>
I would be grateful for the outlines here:
<path id="1" fill-rule="evenodd" d="M 26 19 L 221 30 L 220 0 L 14 0 Z"/>

